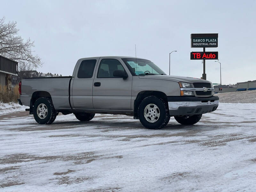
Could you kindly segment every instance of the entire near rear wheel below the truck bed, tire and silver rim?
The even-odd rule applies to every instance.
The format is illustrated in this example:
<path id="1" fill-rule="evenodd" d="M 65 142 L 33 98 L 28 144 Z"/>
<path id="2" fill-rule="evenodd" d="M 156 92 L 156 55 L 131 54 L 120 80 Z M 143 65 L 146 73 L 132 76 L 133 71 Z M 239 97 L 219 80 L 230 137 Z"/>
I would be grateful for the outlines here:
<path id="1" fill-rule="evenodd" d="M 33 107 L 33 115 L 39 124 L 52 124 L 57 116 L 52 100 L 46 97 L 37 99 Z"/>

